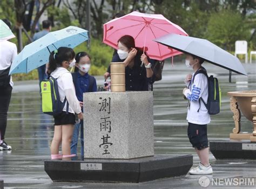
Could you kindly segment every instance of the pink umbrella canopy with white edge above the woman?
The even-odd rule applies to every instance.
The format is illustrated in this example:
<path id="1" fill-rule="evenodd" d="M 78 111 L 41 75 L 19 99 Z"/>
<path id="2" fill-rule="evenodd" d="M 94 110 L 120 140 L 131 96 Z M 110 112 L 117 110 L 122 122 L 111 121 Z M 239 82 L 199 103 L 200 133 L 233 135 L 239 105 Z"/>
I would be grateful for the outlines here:
<path id="1" fill-rule="evenodd" d="M 130 35 L 137 47 L 143 47 L 151 59 L 164 60 L 181 52 L 160 45 L 153 41 L 167 33 L 177 33 L 187 36 L 178 25 L 170 22 L 163 15 L 150 15 L 131 12 L 120 18 L 110 20 L 104 25 L 103 43 L 117 49 L 117 41 L 124 35 Z"/>

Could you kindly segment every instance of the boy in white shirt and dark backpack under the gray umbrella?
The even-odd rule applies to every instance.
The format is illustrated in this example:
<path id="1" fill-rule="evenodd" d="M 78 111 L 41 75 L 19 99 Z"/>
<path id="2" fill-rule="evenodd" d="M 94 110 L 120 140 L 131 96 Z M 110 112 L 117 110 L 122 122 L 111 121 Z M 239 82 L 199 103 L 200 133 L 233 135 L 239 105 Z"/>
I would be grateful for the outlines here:
<path id="1" fill-rule="evenodd" d="M 219 113 L 219 90 L 214 91 L 215 94 L 212 95 L 212 86 L 215 85 L 215 88 L 219 86 L 216 78 L 213 76 L 208 78 L 206 69 L 201 66 L 203 62 L 203 58 L 186 54 L 185 64 L 194 71 L 193 74 L 186 76 L 187 87 L 183 89 L 183 94 L 188 100 L 187 136 L 200 159 L 199 166 L 190 170 L 190 174 L 212 174 L 213 172 L 209 163 L 207 124 L 211 121 L 210 114 Z"/>

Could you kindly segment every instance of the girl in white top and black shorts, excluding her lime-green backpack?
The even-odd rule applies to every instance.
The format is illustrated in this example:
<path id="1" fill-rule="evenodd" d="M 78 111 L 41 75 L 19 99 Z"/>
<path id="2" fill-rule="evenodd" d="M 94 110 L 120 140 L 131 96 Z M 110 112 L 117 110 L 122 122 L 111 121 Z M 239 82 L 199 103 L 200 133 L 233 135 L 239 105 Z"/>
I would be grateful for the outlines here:
<path id="1" fill-rule="evenodd" d="M 51 158 L 69 160 L 71 155 L 70 142 L 75 124 L 75 113 L 83 119 L 80 103 L 76 97 L 75 87 L 72 82 L 72 75 L 68 68 L 74 64 L 75 52 L 72 48 L 59 47 L 52 51 L 49 57 L 49 74 L 57 79 L 60 101 L 66 98 L 62 113 L 54 117 L 54 135 L 51 143 Z M 68 113 L 66 112 L 68 106 Z M 62 155 L 59 154 L 59 145 L 62 144 Z"/>

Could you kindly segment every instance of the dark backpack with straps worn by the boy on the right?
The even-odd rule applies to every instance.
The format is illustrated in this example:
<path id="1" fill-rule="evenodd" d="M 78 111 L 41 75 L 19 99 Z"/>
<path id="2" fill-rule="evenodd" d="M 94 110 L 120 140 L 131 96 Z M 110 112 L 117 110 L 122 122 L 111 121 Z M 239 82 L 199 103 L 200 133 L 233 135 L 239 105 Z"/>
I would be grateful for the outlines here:
<path id="1" fill-rule="evenodd" d="M 208 99 L 207 99 L 207 103 L 204 102 L 204 100 L 202 99 L 202 97 L 199 98 L 199 109 L 201 107 L 201 101 L 205 104 L 205 107 L 208 110 L 208 113 L 210 115 L 216 115 L 220 112 L 220 105 L 221 105 L 221 89 L 219 86 L 219 82 L 217 78 L 214 78 L 213 75 L 211 75 L 210 77 L 208 77 L 206 69 L 205 68 L 201 68 L 198 69 L 198 71 L 196 73 L 194 73 L 193 76 L 193 81 L 194 82 L 194 78 L 196 77 L 197 74 L 202 73 L 206 76 L 207 80 L 208 80 Z M 198 109 L 198 112 L 199 112 Z"/>

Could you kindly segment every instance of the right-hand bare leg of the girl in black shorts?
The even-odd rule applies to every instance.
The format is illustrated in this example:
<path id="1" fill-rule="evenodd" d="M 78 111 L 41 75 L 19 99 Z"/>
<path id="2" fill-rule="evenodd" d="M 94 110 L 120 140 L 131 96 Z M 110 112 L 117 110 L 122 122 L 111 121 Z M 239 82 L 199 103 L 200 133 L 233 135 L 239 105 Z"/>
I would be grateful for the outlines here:
<path id="1" fill-rule="evenodd" d="M 70 143 L 73 136 L 73 124 L 62 125 L 62 154 L 70 155 Z"/>

